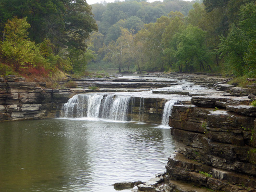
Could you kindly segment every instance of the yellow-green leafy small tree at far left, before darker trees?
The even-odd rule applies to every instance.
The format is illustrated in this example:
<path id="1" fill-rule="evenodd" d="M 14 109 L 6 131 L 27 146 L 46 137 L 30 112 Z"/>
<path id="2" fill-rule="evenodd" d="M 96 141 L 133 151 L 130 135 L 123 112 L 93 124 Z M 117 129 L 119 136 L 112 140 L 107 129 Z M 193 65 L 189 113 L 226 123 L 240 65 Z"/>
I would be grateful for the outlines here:
<path id="1" fill-rule="evenodd" d="M 49 69 L 46 60 L 35 42 L 28 39 L 26 19 L 14 17 L 5 25 L 5 38 L 0 44 L 3 59 L 12 65 L 15 71 L 20 68 L 43 67 Z"/>

